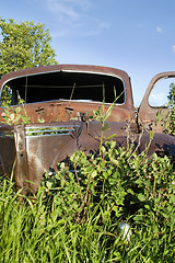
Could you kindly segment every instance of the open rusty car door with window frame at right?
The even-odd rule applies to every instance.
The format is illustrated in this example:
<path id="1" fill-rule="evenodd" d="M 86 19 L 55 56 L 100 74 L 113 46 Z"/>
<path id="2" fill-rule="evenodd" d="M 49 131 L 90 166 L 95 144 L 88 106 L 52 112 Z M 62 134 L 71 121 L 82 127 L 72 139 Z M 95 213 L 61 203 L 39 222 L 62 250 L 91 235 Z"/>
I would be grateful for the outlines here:
<path id="1" fill-rule="evenodd" d="M 175 83 L 175 71 L 159 73 L 151 80 L 138 110 L 140 130 L 163 133 L 162 123 L 170 111 L 167 95 L 171 83 Z"/>

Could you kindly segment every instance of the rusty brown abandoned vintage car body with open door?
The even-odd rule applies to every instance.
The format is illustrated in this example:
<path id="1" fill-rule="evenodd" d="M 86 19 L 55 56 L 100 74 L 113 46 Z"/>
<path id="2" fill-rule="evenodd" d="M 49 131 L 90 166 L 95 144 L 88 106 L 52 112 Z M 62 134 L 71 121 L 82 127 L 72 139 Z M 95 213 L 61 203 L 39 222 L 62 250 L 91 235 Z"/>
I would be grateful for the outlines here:
<path id="1" fill-rule="evenodd" d="M 160 78 L 172 76 L 175 77 L 175 72 L 155 76 L 138 112 L 133 106 L 130 78 L 122 70 L 57 65 L 4 76 L 0 80 L 1 93 L 8 87 L 11 90 L 10 108 L 22 107 L 31 123 L 4 124 L 4 108 L 0 107 L 0 175 L 10 176 L 13 170 L 18 187 L 24 187 L 24 194 L 27 194 L 36 192 L 45 172 L 56 169 L 58 161 L 75 150 L 86 155 L 97 151 L 102 124 L 90 117 L 102 107 L 104 100 L 105 111 L 116 100 L 107 118 L 109 130 L 105 136 L 115 134 L 113 140 L 117 146 L 126 146 L 128 136 L 133 136 L 138 152 L 141 152 L 150 140 L 148 132 L 153 128 L 159 111 L 149 105 L 148 96 Z M 22 100 L 25 104 L 20 104 Z M 175 138 L 163 134 L 161 126 L 155 132 L 149 155 L 156 152 L 175 158 Z"/>

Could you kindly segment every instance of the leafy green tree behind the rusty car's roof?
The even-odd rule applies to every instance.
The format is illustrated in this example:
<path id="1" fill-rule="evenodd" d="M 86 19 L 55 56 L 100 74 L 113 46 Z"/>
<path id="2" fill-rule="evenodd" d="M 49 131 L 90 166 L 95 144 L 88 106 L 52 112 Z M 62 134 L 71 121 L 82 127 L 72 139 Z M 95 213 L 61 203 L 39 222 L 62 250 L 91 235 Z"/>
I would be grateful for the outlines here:
<path id="1" fill-rule="evenodd" d="M 24 68 L 57 64 L 44 24 L 0 19 L 0 77 Z"/>

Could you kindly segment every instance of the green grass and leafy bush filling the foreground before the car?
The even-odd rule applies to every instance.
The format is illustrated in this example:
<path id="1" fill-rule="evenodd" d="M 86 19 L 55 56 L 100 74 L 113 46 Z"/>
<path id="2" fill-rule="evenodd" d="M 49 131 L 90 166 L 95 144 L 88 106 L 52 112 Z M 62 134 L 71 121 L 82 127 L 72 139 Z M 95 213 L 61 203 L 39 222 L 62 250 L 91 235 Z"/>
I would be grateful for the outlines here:
<path id="1" fill-rule="evenodd" d="M 113 144 L 107 147 L 103 158 L 85 158 L 82 152 L 71 158 L 69 165 L 79 171 L 74 176 L 82 176 L 80 182 L 60 163 L 35 199 L 14 193 L 8 179 L 0 182 L 0 262 L 174 262 L 171 162 L 156 156 L 148 161 L 143 155 L 130 158 Z M 124 220 L 131 226 L 129 242 L 119 228 Z"/>

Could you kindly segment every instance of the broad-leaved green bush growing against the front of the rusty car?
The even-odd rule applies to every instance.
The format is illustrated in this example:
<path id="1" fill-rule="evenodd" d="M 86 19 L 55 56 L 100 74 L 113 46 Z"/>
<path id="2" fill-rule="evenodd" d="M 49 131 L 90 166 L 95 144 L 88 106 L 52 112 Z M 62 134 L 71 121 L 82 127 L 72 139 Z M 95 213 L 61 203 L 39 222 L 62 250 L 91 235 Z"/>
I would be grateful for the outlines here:
<path id="1" fill-rule="evenodd" d="M 89 211 L 98 206 L 102 221 L 126 220 L 130 215 L 137 215 L 138 220 L 140 213 L 155 209 L 161 224 L 163 210 L 174 209 L 171 161 L 156 155 L 148 159 L 144 152 L 138 157 L 115 146 L 114 141 L 106 142 L 103 158 L 78 151 L 68 164 L 58 163 L 58 171 L 47 173 L 43 182 L 47 202 L 58 205 L 58 216 L 73 221 L 86 220 Z"/>

